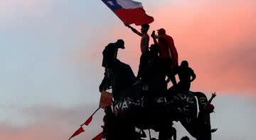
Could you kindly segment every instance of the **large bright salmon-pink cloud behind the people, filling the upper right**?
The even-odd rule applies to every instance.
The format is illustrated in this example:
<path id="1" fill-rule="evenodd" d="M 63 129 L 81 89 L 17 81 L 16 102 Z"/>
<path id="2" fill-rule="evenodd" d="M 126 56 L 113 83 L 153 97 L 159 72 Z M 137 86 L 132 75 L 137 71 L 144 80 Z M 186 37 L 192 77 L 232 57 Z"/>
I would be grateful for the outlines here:
<path id="1" fill-rule="evenodd" d="M 166 28 L 174 37 L 180 62 L 187 59 L 198 76 L 194 91 L 252 93 L 256 91 L 253 4 L 255 1 L 196 1 L 161 7 L 152 14 L 155 22 L 151 30 Z M 137 69 L 139 37 L 126 28 L 115 28 L 112 35 L 123 36 L 129 47 L 119 56 Z"/>

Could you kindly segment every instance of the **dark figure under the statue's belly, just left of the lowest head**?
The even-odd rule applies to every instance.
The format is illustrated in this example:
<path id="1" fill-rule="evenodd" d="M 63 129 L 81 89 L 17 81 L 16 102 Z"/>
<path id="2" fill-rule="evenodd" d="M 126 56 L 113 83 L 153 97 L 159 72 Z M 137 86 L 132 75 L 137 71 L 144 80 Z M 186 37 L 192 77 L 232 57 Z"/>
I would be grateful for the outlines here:
<path id="1" fill-rule="evenodd" d="M 159 140 L 176 140 L 176 129 L 172 126 L 161 128 L 159 131 Z"/>

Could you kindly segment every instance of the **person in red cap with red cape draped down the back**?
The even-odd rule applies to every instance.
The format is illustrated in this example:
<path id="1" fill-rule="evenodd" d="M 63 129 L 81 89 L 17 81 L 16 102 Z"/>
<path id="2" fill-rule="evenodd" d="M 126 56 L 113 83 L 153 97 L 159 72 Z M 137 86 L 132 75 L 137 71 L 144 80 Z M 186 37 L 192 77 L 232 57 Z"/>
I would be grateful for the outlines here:
<path id="1" fill-rule="evenodd" d="M 163 28 L 157 30 L 158 36 L 152 33 L 151 37 L 155 44 L 159 44 L 159 57 L 161 59 L 161 69 L 164 69 L 164 74 L 168 76 L 174 86 L 177 85 L 175 71 L 178 67 L 178 52 L 174 45 L 174 39 L 166 35 L 166 30 Z M 158 39 L 158 42 L 156 41 Z"/>

